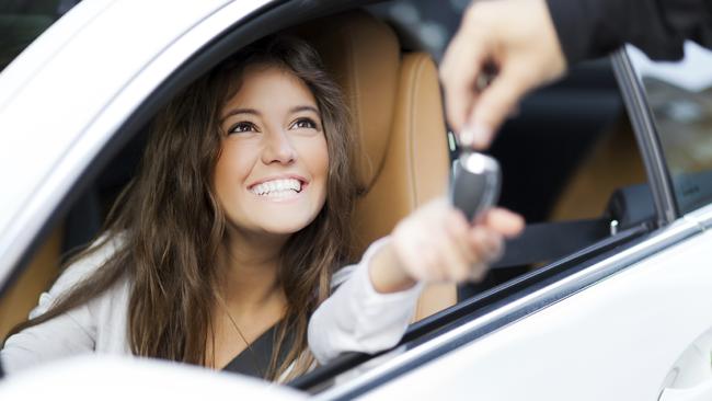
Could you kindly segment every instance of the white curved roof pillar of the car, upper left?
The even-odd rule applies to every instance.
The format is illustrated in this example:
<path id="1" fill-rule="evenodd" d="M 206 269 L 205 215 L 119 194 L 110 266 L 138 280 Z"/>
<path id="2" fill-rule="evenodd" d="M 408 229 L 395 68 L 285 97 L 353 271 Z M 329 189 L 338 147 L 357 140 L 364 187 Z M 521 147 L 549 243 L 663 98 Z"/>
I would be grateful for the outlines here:
<path id="1" fill-rule="evenodd" d="M 33 76 L 14 88 L 12 102 L 5 102 L 0 114 L 0 280 L 68 183 L 145 96 L 200 46 L 267 2 L 234 1 L 226 7 L 227 0 L 126 0 L 95 12 L 100 7 L 84 1 L 68 16 L 90 20 L 70 19 L 73 30 L 65 26 L 57 38 L 43 35 L 26 57 L 13 62 L 13 70 L 24 70 L 26 60 Z M 67 35 L 71 41 L 65 43 Z M 38 54 L 62 44 L 61 51 L 41 61 Z M 37 62 L 44 65 L 38 68 Z M 18 75 L 3 72 L 0 82 L 20 80 Z"/>

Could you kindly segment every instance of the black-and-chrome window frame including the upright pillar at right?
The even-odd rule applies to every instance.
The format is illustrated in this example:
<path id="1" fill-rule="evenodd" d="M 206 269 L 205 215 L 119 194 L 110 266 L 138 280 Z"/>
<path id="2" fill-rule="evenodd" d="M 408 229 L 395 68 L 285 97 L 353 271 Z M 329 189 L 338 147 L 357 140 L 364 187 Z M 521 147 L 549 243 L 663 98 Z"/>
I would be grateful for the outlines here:
<path id="1" fill-rule="evenodd" d="M 319 393 L 320 398 L 325 399 L 361 396 L 701 232 L 694 221 L 678 221 L 680 214 L 659 137 L 645 92 L 624 49 L 615 53 L 611 62 L 643 158 L 653 196 L 655 222 L 621 231 L 413 324 L 392 351 L 376 355 L 391 353 L 390 360 L 344 385 L 329 388 L 325 382 L 335 382 L 340 376 L 348 377 L 349 367 L 355 368 L 369 357 L 363 354 L 346 355 L 322 370 L 292 381 L 290 386 Z M 707 226 L 710 225 L 708 221 Z M 496 314 L 499 316 L 492 318 Z"/>

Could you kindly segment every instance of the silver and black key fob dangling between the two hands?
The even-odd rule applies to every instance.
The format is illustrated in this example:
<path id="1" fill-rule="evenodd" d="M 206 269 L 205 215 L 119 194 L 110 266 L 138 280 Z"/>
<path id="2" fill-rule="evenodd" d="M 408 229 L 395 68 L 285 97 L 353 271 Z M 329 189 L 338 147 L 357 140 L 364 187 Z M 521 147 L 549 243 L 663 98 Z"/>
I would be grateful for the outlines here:
<path id="1" fill-rule="evenodd" d="M 499 163 L 486 154 L 463 151 L 453 165 L 450 200 L 468 221 L 494 206 L 499 197 Z"/>

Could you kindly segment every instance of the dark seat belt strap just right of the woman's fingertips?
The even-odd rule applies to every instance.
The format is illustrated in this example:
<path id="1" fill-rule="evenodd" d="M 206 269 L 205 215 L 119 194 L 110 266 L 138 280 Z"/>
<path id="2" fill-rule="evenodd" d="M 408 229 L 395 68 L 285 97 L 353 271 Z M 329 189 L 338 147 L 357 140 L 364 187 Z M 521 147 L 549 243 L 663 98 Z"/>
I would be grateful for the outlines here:
<path id="1" fill-rule="evenodd" d="M 597 218 L 527 225 L 519 237 L 505 242 L 505 253 L 491 268 L 547 262 L 579 251 L 609 237 L 610 220 Z"/>

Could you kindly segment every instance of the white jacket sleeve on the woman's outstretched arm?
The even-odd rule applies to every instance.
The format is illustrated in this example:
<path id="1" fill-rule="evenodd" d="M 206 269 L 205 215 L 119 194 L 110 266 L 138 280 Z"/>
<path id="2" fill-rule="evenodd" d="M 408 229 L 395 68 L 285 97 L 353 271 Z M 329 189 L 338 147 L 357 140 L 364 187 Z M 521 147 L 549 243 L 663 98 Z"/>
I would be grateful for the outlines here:
<path id="1" fill-rule="evenodd" d="M 341 284 L 312 314 L 308 340 L 320 364 L 345 352 L 375 353 L 394 346 L 415 313 L 421 283 L 399 293 L 380 294 L 374 288 L 368 265 L 386 239 L 374 242 L 361 261 L 343 267 L 332 285 Z"/>

